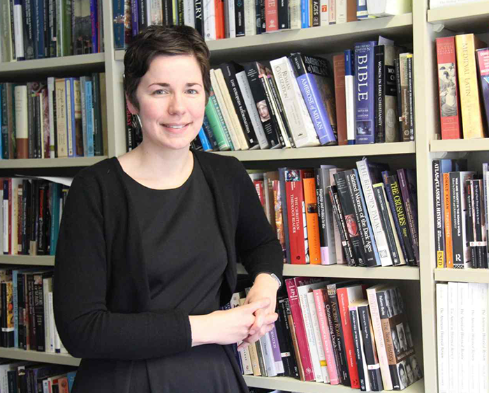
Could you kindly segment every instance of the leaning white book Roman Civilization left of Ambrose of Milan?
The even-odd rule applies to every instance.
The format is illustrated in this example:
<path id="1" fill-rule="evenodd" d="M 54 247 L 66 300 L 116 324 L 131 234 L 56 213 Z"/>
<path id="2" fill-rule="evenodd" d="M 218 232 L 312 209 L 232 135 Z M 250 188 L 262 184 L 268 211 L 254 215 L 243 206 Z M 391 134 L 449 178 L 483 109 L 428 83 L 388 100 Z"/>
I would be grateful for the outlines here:
<path id="1" fill-rule="evenodd" d="M 319 146 L 318 135 L 287 57 L 270 61 L 295 147 Z"/>

